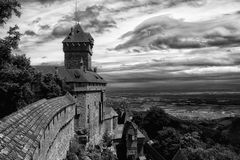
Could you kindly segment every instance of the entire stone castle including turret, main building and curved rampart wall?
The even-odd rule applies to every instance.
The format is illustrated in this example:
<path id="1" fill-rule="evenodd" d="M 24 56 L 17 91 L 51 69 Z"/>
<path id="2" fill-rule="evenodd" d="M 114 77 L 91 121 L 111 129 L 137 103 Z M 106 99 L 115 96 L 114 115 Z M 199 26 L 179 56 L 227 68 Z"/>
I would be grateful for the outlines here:
<path id="1" fill-rule="evenodd" d="M 70 94 L 40 100 L 0 121 L 0 160 L 61 160 L 74 134 L 97 144 L 117 126 L 117 113 L 106 107 L 106 81 L 92 69 L 94 40 L 76 24 L 63 40 L 64 66 L 38 66 L 56 74 Z"/>

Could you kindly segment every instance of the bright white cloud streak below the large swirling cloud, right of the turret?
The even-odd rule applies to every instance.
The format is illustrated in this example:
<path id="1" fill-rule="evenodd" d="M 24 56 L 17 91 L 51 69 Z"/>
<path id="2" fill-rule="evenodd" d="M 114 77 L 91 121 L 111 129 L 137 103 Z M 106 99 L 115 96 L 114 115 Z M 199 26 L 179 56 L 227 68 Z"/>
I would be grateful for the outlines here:
<path id="1" fill-rule="evenodd" d="M 157 72 L 166 72 L 169 74 L 179 74 L 180 72 L 186 72 L 190 75 L 200 73 L 200 70 L 194 73 L 197 68 L 203 69 L 206 72 L 221 72 L 223 68 L 239 68 L 238 65 L 240 54 L 229 53 L 227 51 L 220 50 L 201 50 L 202 54 L 197 54 L 196 51 L 186 52 L 178 55 L 168 55 L 164 59 L 152 59 L 151 61 L 129 64 L 129 65 L 118 65 L 112 68 L 105 68 L 102 71 L 105 73 L 112 72 L 128 72 L 128 71 L 143 71 L 149 70 Z M 151 53 L 151 52 L 150 52 Z M 105 64 L 107 65 L 107 64 Z M 205 68 L 205 69 L 204 69 Z M 218 69 L 219 68 L 219 69 Z M 209 70 L 212 69 L 212 70 Z M 190 73 L 192 70 L 193 73 Z M 221 71 L 219 71 L 221 70 Z M 229 70 L 230 72 L 231 70 Z M 234 70 L 235 71 L 235 70 Z M 238 69 L 237 69 L 238 71 Z M 187 73 L 187 72 L 186 72 Z"/>

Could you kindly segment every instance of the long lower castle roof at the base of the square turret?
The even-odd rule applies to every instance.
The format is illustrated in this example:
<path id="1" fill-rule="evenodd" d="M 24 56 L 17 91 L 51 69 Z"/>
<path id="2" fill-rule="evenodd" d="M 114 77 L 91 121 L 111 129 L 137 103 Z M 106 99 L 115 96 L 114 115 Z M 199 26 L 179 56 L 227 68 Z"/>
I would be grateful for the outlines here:
<path id="1" fill-rule="evenodd" d="M 64 66 L 35 66 L 43 74 L 57 74 L 67 83 L 107 83 L 99 74 L 83 69 L 66 69 Z"/>

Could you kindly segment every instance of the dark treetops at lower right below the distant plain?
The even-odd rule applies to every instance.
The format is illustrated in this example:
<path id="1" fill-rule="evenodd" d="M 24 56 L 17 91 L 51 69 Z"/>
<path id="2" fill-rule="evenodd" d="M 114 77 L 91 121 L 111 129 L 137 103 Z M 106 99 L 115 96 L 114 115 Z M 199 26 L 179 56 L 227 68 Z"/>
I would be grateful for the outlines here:
<path id="1" fill-rule="evenodd" d="M 172 159 L 179 148 L 189 160 L 240 159 L 239 118 L 183 121 L 154 107 L 144 117 L 135 115 L 134 120 L 147 132 L 154 142 L 153 147 L 166 159 Z M 221 129 L 214 127 L 224 120 L 232 121 L 232 124 Z M 231 142 L 232 139 L 234 141 Z"/>

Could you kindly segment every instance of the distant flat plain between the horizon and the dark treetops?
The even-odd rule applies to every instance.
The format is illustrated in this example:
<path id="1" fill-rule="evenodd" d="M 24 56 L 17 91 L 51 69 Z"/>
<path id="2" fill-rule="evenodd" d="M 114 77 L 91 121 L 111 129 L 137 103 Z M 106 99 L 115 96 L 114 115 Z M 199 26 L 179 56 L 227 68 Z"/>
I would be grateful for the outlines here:
<path id="1" fill-rule="evenodd" d="M 240 116 L 238 92 L 186 92 L 186 93 L 109 93 L 115 103 L 125 102 L 128 109 L 139 112 L 157 106 L 181 119 L 218 119 Z"/>

